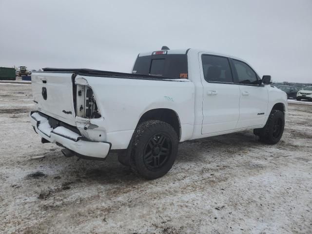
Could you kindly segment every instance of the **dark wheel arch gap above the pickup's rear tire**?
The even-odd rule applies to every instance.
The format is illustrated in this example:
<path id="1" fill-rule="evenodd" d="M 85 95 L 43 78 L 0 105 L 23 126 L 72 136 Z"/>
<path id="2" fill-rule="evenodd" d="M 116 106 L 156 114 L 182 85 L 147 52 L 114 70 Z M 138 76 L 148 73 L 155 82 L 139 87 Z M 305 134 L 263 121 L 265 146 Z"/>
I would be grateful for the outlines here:
<path id="1" fill-rule="evenodd" d="M 156 108 L 146 111 L 138 120 L 137 125 L 147 120 L 159 120 L 170 124 L 176 131 L 178 139 L 181 138 L 181 123 L 176 111 L 169 108 Z"/>

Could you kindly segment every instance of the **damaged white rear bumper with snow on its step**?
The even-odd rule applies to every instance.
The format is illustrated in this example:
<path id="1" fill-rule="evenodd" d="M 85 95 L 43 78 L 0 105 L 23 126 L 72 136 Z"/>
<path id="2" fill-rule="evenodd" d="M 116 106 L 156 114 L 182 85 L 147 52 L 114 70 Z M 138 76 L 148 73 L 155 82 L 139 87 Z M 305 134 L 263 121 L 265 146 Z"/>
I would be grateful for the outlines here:
<path id="1" fill-rule="evenodd" d="M 88 140 L 63 126 L 52 128 L 48 118 L 45 115 L 40 115 L 39 112 L 30 113 L 31 124 L 40 137 L 52 143 L 60 144 L 77 153 L 77 156 L 80 155 L 84 158 L 105 159 L 108 155 L 112 146 L 111 143 Z"/>

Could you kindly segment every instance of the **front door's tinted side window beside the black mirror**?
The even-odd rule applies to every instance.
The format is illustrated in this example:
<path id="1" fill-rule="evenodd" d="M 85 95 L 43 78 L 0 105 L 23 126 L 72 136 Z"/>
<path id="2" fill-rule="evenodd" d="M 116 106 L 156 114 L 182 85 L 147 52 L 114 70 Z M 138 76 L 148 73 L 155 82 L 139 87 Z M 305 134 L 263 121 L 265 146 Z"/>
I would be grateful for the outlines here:
<path id="1" fill-rule="evenodd" d="M 233 64 L 240 84 L 258 85 L 259 81 L 254 70 L 242 61 L 233 59 Z"/>

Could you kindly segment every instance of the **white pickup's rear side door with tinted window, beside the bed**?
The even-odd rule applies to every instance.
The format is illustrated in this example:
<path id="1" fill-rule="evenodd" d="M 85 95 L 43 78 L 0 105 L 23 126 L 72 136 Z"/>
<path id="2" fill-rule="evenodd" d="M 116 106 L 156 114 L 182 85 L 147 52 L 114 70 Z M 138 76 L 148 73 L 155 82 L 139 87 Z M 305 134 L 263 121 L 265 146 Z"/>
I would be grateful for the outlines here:
<path id="1" fill-rule="evenodd" d="M 203 85 L 202 134 L 234 130 L 239 117 L 239 85 L 226 57 L 199 53 Z"/>

